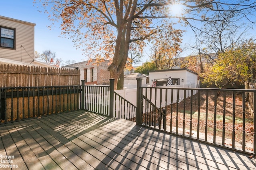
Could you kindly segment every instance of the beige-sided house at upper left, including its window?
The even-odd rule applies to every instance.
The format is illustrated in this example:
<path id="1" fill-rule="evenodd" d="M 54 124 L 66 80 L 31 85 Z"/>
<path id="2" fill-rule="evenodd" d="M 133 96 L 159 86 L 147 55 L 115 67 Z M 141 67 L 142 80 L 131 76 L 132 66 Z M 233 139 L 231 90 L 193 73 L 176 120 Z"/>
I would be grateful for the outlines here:
<path id="1" fill-rule="evenodd" d="M 0 58 L 32 63 L 35 25 L 35 23 L 0 16 Z"/>

